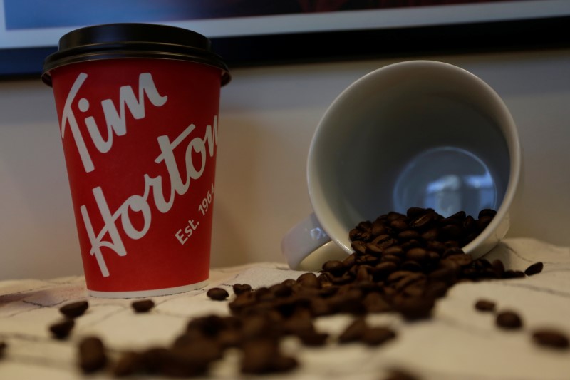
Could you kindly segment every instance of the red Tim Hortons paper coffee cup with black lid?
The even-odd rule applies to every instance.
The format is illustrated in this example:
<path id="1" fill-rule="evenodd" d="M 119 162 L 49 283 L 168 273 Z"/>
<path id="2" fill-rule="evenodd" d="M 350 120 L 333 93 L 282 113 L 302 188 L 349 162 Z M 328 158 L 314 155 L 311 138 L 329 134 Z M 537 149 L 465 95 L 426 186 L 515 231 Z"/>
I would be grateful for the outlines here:
<path id="1" fill-rule="evenodd" d="M 227 66 L 187 29 L 107 24 L 46 58 L 90 294 L 150 297 L 209 276 Z"/>

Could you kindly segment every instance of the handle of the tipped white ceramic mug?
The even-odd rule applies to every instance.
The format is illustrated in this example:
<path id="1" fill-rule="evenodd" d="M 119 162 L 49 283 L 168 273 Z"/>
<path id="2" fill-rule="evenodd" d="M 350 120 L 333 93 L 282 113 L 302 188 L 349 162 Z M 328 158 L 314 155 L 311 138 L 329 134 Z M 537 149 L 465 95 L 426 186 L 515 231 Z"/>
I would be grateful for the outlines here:
<path id="1" fill-rule="evenodd" d="M 281 252 L 294 270 L 317 272 L 328 260 L 344 260 L 348 253 L 328 237 L 314 213 L 297 223 L 281 240 Z"/>

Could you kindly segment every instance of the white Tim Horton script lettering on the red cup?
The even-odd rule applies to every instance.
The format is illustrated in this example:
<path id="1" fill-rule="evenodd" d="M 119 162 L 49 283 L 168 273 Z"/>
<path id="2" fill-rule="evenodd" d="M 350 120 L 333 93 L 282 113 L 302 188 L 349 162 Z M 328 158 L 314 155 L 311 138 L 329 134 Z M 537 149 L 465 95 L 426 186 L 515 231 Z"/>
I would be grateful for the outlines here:
<path id="1" fill-rule="evenodd" d="M 73 141 L 76 144 L 79 157 L 83 163 L 86 173 L 93 172 L 95 165 L 86 145 L 86 138 L 89 138 L 95 148 L 100 153 L 108 153 L 113 148 L 113 138 L 115 136 L 125 136 L 128 132 L 126 123 L 126 112 L 129 111 L 135 120 L 145 118 L 145 107 L 164 106 L 168 96 L 161 95 L 157 90 L 152 75 L 141 73 L 138 78 L 138 93 L 131 86 L 121 86 L 119 89 L 118 107 L 112 99 L 105 99 L 100 102 L 106 123 L 107 139 L 103 138 L 93 115 L 89 115 L 90 103 L 87 98 L 77 98 L 78 92 L 88 80 L 86 73 L 80 73 L 66 98 L 61 117 L 61 138 L 66 138 L 66 129 L 71 130 Z M 145 104 L 145 98 L 148 103 Z M 73 113 L 72 106 L 77 106 L 82 115 Z M 79 123 L 83 123 L 84 128 L 80 128 Z M 91 249 L 90 255 L 95 256 L 103 277 L 109 277 L 110 272 L 105 263 L 101 248 L 115 252 L 119 256 L 127 255 L 127 250 L 123 244 L 123 237 L 119 233 L 119 225 L 123 228 L 125 235 L 133 240 L 138 240 L 146 235 L 152 222 L 152 212 L 149 199 L 156 210 L 162 213 L 168 212 L 174 205 L 177 195 L 184 195 L 189 189 L 192 180 L 202 177 L 206 168 L 207 158 L 214 156 L 215 145 L 217 145 L 217 115 L 214 115 L 212 125 L 207 125 L 206 133 L 203 137 L 193 136 L 192 132 L 196 125 L 190 124 L 174 140 L 170 140 L 167 135 L 157 136 L 157 145 L 160 154 L 154 160 L 156 165 L 165 165 L 167 178 L 162 175 L 151 177 L 144 175 L 145 188 L 141 193 L 128 196 L 122 205 L 116 210 L 110 210 L 103 194 L 103 189 L 97 186 L 92 189 L 95 210 L 88 210 L 86 205 L 81 205 L 81 216 L 86 227 Z M 86 132 L 82 132 L 82 129 Z M 184 162 L 175 160 L 175 150 L 185 149 Z M 192 154 L 196 153 L 196 154 Z M 196 160 L 195 157 L 199 157 Z M 181 160 L 180 160 L 181 161 Z M 182 178 L 179 165 L 184 165 L 186 175 Z M 198 166 L 196 166 L 198 165 Z M 163 181 L 170 182 L 170 186 L 163 186 Z M 170 188 L 170 193 L 165 194 L 163 188 Z M 103 227 L 97 232 L 94 230 L 90 219 L 90 212 L 98 212 L 103 219 Z M 142 227 L 135 227 L 130 220 L 130 213 L 142 215 Z M 93 215 L 93 214 L 91 214 Z"/>

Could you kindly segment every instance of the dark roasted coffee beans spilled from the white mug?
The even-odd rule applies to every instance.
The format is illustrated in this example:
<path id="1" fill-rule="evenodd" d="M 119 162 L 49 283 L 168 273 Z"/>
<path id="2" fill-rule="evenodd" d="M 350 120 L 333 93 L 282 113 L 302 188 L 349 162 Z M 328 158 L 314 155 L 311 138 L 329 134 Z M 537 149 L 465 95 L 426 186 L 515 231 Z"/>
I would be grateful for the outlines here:
<path id="1" fill-rule="evenodd" d="M 463 252 L 462 247 L 489 225 L 495 213 L 482 210 L 477 219 L 465 212 L 442 217 L 432 209 L 413 207 L 405 214 L 389 212 L 358 223 L 349 235 L 354 252 L 346 259 L 324 262 L 318 273 L 306 272 L 268 287 L 234 284 L 233 297 L 226 289 L 209 289 L 210 299 L 227 300 L 229 316 L 210 314 L 190 320 L 171 346 L 124 352 L 113 364 L 113 374 L 198 376 L 207 374 L 209 365 L 228 349 L 240 352 L 239 366 L 244 374 L 291 371 L 299 362 L 281 351 L 285 337 L 313 347 L 389 344 L 398 332 L 388 326 L 369 325 L 367 314 L 397 313 L 405 320 L 429 318 L 437 299 L 445 297 L 458 282 L 519 278 L 541 271 L 540 262 L 524 272 L 513 271 L 505 269 L 500 260 L 473 259 Z M 133 303 L 136 312 L 147 312 L 153 306 L 152 300 Z M 480 300 L 475 308 L 494 312 L 496 305 Z M 333 314 L 351 315 L 353 322 L 338 335 L 318 331 L 316 318 Z M 497 314 L 496 324 L 519 329 L 522 319 L 505 311 Z M 80 344 L 81 369 L 90 372 L 107 366 L 103 342 L 87 339 Z M 542 345 L 568 345 L 564 334 L 552 330 L 534 332 L 533 339 Z M 390 379 L 415 377 L 393 371 Z"/>

